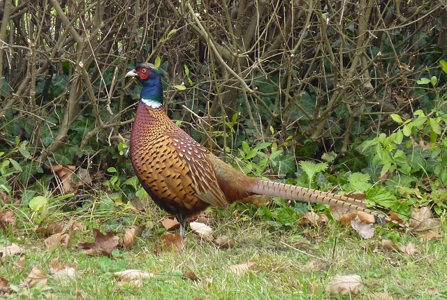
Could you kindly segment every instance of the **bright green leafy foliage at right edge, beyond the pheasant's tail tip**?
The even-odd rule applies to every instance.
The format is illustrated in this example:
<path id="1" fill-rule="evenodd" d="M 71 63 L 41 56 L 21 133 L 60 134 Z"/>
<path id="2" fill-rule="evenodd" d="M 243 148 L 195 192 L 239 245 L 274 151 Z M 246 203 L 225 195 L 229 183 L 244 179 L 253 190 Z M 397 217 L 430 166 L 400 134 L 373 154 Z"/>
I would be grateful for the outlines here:
<path id="1" fill-rule="evenodd" d="M 437 89 L 438 82 L 435 76 L 418 80 L 419 85 L 431 84 L 434 90 L 434 109 L 430 113 L 419 109 L 413 112 L 413 117 L 407 118 L 390 114 L 399 127 L 392 134 L 382 133 L 364 141 L 358 149 L 366 155 L 370 164 L 381 166 L 381 177 L 397 175 L 402 188 L 433 192 L 434 210 L 441 213 L 447 208 L 447 200 L 441 199 L 437 193 L 440 187 L 447 185 L 447 113 L 444 103 L 446 94 L 441 95 Z M 393 177 L 390 180 L 395 183 Z M 394 187 L 393 190 L 397 194 L 400 189 Z M 400 213 L 407 210 L 403 206 L 407 206 L 408 201 L 418 202 L 416 196 L 410 196 L 408 201 L 399 205 L 394 194 L 380 186 L 368 190 L 367 197 Z M 420 205 L 426 204 L 419 202 Z"/>

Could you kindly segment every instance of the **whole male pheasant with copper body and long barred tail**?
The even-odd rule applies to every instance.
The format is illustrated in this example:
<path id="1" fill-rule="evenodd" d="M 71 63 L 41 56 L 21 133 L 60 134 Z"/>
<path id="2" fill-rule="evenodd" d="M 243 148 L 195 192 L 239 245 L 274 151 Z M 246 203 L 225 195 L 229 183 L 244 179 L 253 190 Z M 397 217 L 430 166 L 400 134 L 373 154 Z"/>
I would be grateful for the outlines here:
<path id="1" fill-rule="evenodd" d="M 210 205 L 226 208 L 234 201 L 247 203 L 256 194 L 348 206 L 388 219 L 362 207 L 365 203 L 358 199 L 251 178 L 236 171 L 169 119 L 163 105 L 161 74 L 154 65 L 146 63 L 126 74 L 142 84 L 130 154 L 142 187 L 158 206 L 177 217 L 182 236 L 187 217 Z"/>

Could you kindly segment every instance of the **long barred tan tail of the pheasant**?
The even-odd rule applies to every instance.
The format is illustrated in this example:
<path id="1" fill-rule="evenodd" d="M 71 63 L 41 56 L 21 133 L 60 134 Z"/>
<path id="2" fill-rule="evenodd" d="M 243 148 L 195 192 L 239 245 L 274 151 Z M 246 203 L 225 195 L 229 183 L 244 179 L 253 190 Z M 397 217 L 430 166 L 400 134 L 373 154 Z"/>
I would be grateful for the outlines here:
<path id="1" fill-rule="evenodd" d="M 257 180 L 256 183 L 247 187 L 247 190 L 254 194 L 261 194 L 268 197 L 280 197 L 289 200 L 322 203 L 331 206 L 344 206 L 347 208 L 352 208 L 353 210 L 360 210 L 362 212 L 369 213 L 370 215 L 374 215 L 375 217 L 379 218 L 381 222 L 386 220 L 387 222 L 393 222 L 406 228 L 406 226 L 390 219 L 390 217 L 384 215 L 383 213 L 366 208 L 365 206 L 367 203 L 360 199 L 307 189 L 305 187 L 297 187 L 295 185 L 285 185 L 284 183 L 276 183 L 268 180 Z"/>

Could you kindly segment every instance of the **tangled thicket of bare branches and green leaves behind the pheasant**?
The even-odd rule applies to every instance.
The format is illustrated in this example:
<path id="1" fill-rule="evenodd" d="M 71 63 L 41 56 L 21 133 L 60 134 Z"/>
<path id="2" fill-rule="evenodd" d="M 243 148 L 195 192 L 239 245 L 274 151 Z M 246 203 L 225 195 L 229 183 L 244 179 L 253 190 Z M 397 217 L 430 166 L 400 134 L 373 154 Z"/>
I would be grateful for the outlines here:
<path id="1" fill-rule="evenodd" d="M 1 3 L 0 203 L 144 197 L 124 74 L 157 62 L 170 117 L 243 171 L 447 207 L 444 1 Z"/>

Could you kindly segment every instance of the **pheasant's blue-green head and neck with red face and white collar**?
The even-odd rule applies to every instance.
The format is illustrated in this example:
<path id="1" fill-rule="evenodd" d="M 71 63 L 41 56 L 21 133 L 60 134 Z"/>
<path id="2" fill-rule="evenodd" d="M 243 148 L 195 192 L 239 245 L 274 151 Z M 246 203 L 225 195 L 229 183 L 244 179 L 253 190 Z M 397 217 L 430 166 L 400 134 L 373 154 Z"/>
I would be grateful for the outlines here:
<path id="1" fill-rule="evenodd" d="M 153 64 L 139 64 L 126 77 L 135 77 L 142 85 L 140 101 L 152 108 L 163 105 L 163 87 L 161 87 L 163 72 L 156 69 Z"/>

